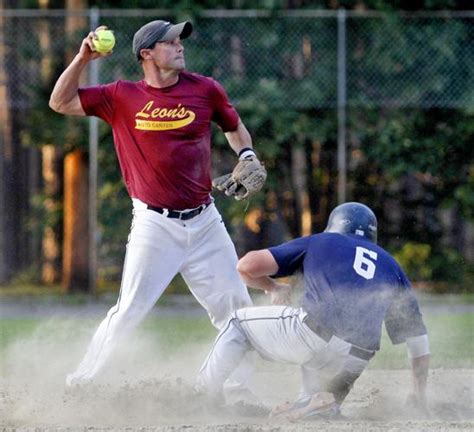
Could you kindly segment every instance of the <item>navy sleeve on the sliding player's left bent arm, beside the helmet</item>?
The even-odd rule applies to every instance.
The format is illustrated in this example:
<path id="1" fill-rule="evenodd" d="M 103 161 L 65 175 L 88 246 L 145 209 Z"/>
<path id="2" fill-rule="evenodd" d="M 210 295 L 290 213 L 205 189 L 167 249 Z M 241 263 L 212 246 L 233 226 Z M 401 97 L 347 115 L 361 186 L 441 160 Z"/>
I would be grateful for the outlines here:
<path id="1" fill-rule="evenodd" d="M 310 237 L 301 237 L 279 246 L 268 248 L 278 264 L 278 272 L 273 277 L 290 276 L 303 267 Z"/>

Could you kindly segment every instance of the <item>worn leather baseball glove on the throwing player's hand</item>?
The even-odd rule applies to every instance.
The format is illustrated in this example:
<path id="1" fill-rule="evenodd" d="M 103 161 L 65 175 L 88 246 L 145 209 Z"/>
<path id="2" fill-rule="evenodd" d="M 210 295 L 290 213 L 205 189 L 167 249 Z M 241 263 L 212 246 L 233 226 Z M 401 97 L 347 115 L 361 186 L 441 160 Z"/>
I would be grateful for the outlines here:
<path id="1" fill-rule="evenodd" d="M 267 171 L 256 157 L 240 160 L 231 174 L 225 174 L 212 181 L 212 186 L 242 200 L 262 189 L 267 178 Z"/>

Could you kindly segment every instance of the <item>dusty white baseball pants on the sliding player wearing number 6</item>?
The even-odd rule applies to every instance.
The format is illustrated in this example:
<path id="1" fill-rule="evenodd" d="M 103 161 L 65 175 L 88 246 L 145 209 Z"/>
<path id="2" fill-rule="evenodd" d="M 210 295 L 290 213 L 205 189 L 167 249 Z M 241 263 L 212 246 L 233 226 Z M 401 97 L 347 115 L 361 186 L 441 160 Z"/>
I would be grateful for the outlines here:
<path id="1" fill-rule="evenodd" d="M 220 396 L 224 381 L 245 353 L 255 350 L 264 359 L 301 366 L 300 399 L 330 391 L 342 402 L 369 362 L 350 355 L 352 345 L 342 339 L 333 336 L 324 341 L 303 322 L 306 315 L 301 308 L 290 306 L 234 312 L 199 372 L 198 387 Z"/>

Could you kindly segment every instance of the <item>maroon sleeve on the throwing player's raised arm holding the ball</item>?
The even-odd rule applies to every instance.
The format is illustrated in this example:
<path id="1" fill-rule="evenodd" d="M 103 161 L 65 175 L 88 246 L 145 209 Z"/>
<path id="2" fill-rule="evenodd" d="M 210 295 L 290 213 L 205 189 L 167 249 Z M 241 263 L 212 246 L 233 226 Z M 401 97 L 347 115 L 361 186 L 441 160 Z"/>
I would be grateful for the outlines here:
<path id="1" fill-rule="evenodd" d="M 111 124 L 114 113 L 114 99 L 118 82 L 79 89 L 82 109 L 87 115 L 96 116 Z"/>

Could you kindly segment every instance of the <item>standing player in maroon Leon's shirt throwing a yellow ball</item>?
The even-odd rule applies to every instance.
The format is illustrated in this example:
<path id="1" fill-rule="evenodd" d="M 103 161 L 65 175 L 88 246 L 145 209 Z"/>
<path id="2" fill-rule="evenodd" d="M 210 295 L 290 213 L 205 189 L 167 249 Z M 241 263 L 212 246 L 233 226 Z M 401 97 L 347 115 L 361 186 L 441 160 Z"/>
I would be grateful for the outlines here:
<path id="1" fill-rule="evenodd" d="M 96 34 L 91 32 L 51 94 L 53 110 L 98 116 L 111 125 L 133 201 L 118 301 L 77 370 L 67 377 L 69 385 L 96 377 L 121 336 L 142 321 L 178 272 L 218 329 L 232 311 L 251 305 L 236 270 L 234 245 L 210 195 L 211 122 L 239 155 L 237 165 L 245 164 L 245 175 L 253 174 L 245 190 L 238 174 L 229 174 L 224 187 L 228 195 L 242 198 L 257 192 L 265 170 L 223 87 L 185 71 L 182 40 L 191 32 L 190 22 L 146 24 L 133 38 L 143 80 L 80 88 L 88 63 L 107 55 L 94 50 Z"/>

